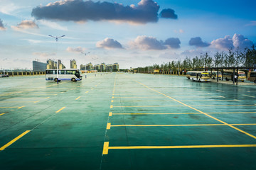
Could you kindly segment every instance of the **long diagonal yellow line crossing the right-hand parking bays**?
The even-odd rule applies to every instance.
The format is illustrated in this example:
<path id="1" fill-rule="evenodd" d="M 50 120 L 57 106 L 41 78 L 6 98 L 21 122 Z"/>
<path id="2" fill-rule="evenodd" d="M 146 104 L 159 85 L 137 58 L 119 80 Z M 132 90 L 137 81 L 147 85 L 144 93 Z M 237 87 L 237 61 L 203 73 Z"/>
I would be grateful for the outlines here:
<path id="1" fill-rule="evenodd" d="M 136 81 L 136 80 L 134 80 L 134 81 Z M 236 128 L 236 127 L 233 126 L 233 125 L 229 125 L 228 123 L 225 123 L 224 121 L 222 121 L 222 120 L 220 120 L 220 119 L 218 119 L 218 118 L 215 118 L 215 117 L 213 117 L 212 115 L 208 115 L 207 113 L 204 113 L 203 111 L 200 111 L 200 110 L 198 110 L 198 109 L 196 109 L 196 108 L 193 108 L 192 106 L 188 106 L 187 104 L 182 103 L 181 101 L 178 101 L 178 100 L 176 100 L 175 98 L 172 98 L 172 97 L 170 97 L 170 96 L 167 96 L 166 94 L 163 94 L 163 93 L 161 93 L 161 92 L 159 92 L 159 91 L 156 91 L 155 89 L 152 89 L 152 88 L 150 88 L 149 86 L 146 86 L 146 85 L 142 84 L 142 83 L 139 82 L 139 81 L 136 81 L 136 82 L 137 82 L 138 84 L 141 84 L 142 86 L 146 87 L 147 89 L 151 89 L 151 91 L 155 91 L 155 92 L 158 93 L 158 94 L 162 94 L 163 96 L 166 96 L 166 97 L 168 97 L 168 98 L 171 98 L 172 100 L 177 101 L 178 103 L 181 103 L 183 106 L 187 106 L 188 108 L 192 108 L 193 110 L 198 111 L 199 113 L 202 113 L 202 114 L 204 114 L 204 115 L 207 115 L 209 118 L 213 118 L 214 120 L 217 120 L 217 121 L 220 122 L 220 123 L 223 123 L 223 124 L 225 124 L 225 125 L 228 125 L 230 128 L 233 128 L 233 129 L 235 129 L 235 130 L 238 130 L 239 132 L 242 132 L 242 133 L 244 133 L 245 135 L 248 135 L 248 136 L 250 136 L 250 137 L 256 139 L 256 137 L 255 137 L 254 135 L 251 135 L 250 133 L 245 132 L 244 130 L 240 130 L 239 128 Z M 256 106 L 256 105 L 255 105 L 255 106 Z"/>

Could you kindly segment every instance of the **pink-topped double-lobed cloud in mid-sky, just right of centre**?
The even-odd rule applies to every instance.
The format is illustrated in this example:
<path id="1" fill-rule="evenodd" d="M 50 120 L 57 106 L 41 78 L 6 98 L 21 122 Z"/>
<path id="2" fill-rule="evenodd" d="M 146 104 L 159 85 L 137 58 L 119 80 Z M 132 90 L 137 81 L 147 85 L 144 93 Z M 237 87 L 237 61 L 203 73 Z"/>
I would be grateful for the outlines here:
<path id="1" fill-rule="evenodd" d="M 138 36 L 131 42 L 132 48 L 139 48 L 141 50 L 165 50 L 166 48 L 179 48 L 181 41 L 178 38 L 168 38 L 165 40 L 156 40 L 154 37 L 147 37 L 145 35 Z"/>

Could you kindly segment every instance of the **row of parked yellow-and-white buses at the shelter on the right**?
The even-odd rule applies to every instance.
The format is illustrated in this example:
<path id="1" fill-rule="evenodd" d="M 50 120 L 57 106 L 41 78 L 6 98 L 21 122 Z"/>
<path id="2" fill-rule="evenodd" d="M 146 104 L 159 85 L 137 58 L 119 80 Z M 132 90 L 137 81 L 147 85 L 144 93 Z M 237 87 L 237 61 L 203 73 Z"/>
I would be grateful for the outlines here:
<path id="1" fill-rule="evenodd" d="M 253 81 L 256 84 L 256 72 L 248 72 L 248 80 Z M 226 81 L 235 79 L 235 81 L 246 80 L 245 72 L 239 70 L 238 72 L 234 72 L 233 70 L 224 70 L 223 74 L 220 71 L 188 71 L 186 72 L 186 77 L 191 79 L 192 81 L 210 81 L 210 79 L 225 79 Z"/>

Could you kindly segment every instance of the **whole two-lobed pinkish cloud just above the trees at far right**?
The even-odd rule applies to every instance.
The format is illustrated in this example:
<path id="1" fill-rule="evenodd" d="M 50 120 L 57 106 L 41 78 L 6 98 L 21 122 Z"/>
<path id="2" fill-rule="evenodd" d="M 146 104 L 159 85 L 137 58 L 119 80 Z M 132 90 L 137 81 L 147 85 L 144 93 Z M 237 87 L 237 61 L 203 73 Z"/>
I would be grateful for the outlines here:
<path id="1" fill-rule="evenodd" d="M 243 35 L 234 34 L 233 38 L 226 35 L 225 38 L 218 38 L 210 42 L 211 47 L 215 47 L 220 50 L 229 50 L 231 48 L 239 48 L 240 50 L 245 49 L 245 47 L 252 47 L 253 42 Z"/>

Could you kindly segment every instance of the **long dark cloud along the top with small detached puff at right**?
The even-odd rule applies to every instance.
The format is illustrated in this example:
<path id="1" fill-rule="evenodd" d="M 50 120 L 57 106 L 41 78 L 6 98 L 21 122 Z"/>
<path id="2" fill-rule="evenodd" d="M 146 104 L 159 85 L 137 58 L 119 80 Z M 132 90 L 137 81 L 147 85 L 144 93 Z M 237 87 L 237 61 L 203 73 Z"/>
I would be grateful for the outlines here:
<path id="1" fill-rule="evenodd" d="M 94 1 L 56 1 L 47 6 L 33 8 L 31 16 L 36 19 L 60 21 L 124 21 L 133 23 L 157 22 L 159 5 L 153 0 L 139 1 L 137 6 Z M 164 18 L 175 18 L 172 9 L 162 11 Z"/>

